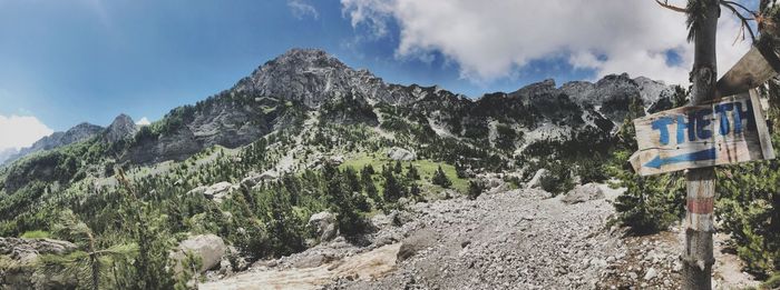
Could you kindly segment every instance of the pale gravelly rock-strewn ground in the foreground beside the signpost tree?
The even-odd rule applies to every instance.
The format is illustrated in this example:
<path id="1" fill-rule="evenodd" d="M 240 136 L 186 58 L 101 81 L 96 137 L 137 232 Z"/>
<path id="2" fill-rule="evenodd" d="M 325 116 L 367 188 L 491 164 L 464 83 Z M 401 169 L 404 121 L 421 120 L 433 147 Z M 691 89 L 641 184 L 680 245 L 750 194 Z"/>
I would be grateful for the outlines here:
<path id="1" fill-rule="evenodd" d="M 604 194 L 599 193 L 603 192 Z M 594 193 L 595 192 L 595 193 Z M 367 247 L 343 238 L 201 289 L 674 289 L 680 230 L 624 237 L 607 228 L 620 192 L 549 198 L 540 190 L 417 203 L 373 219 Z M 716 244 L 719 289 L 755 284 Z"/>

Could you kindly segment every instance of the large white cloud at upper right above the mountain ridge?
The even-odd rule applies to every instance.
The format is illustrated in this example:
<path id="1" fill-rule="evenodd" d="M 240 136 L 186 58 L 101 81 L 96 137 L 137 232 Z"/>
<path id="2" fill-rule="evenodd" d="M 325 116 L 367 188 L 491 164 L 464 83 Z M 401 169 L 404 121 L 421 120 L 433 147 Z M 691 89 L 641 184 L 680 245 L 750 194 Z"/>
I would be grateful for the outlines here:
<path id="1" fill-rule="evenodd" d="M 684 0 L 670 3 L 684 6 Z M 628 72 L 667 83 L 688 83 L 693 46 L 685 16 L 652 0 L 341 0 L 353 27 L 387 36 L 400 28 L 399 58 L 439 51 L 460 67 L 462 78 L 506 78 L 532 60 L 563 58 L 597 77 Z M 719 72 L 749 49 L 732 46 L 739 23 L 723 11 L 719 23 Z M 679 63 L 667 63 L 675 51 Z"/>

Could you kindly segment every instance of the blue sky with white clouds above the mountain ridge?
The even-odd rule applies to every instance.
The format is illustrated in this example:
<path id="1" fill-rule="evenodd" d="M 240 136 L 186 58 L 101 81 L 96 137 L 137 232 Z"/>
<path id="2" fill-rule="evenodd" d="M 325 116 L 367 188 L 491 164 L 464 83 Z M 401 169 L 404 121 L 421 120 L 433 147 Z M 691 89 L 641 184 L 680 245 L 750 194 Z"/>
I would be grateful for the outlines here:
<path id="1" fill-rule="evenodd" d="M 294 47 L 324 49 L 389 82 L 469 97 L 623 71 L 675 82 L 688 70 L 684 18 L 653 1 L 632 17 L 624 14 L 636 13 L 626 3 L 634 1 L 491 1 L 0 0 L 0 139 L 18 139 L 0 150 L 39 138 L 3 120 L 32 117 L 51 130 L 106 126 L 123 112 L 154 121 Z M 568 12 L 545 7 L 562 1 Z M 594 2 L 604 9 L 577 7 Z M 643 18 L 651 23 L 634 23 Z M 728 61 L 743 48 L 734 50 Z"/>

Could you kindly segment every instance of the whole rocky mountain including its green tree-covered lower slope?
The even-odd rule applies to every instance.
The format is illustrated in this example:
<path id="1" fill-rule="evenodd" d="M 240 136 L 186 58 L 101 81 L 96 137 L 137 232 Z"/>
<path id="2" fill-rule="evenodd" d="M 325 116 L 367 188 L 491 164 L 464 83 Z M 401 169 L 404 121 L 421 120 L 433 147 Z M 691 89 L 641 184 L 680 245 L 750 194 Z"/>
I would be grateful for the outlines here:
<path id="1" fill-rule="evenodd" d="M 612 74 L 470 99 L 436 86 L 389 83 L 324 51 L 293 49 L 149 126 L 120 114 L 106 128 L 82 123 L 21 150 L 0 168 L 0 237 L 59 231 L 70 216 L 100 247 L 145 247 L 138 258 L 117 259 L 116 269 L 147 272 L 101 280 L 120 289 L 174 288 L 172 277 L 182 274 L 166 270 L 182 262 L 170 254 L 174 241 L 230 244 L 230 261 L 220 261 L 222 248 L 202 260 L 203 270 L 228 272 L 335 236 L 379 247 L 382 238 L 371 229 L 402 222 L 412 204 L 475 198 L 486 188 L 562 193 L 606 180 L 605 164 L 620 167 L 614 152 L 627 147 L 620 126 L 679 103 L 681 92 Z M 461 213 L 476 209 L 461 201 L 454 199 Z M 364 219 L 377 212 L 387 222 Z M 496 221 L 505 213 L 494 214 Z M 322 227 L 314 231 L 312 223 Z"/>

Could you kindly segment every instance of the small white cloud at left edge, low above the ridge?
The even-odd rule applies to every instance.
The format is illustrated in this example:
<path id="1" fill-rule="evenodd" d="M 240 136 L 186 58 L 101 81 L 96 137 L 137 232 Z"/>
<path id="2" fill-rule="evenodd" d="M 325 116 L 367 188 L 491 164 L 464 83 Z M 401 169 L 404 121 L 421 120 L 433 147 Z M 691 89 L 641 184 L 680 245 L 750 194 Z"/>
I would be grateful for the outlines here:
<path id="1" fill-rule="evenodd" d="M 53 130 L 32 116 L 0 114 L 0 151 L 29 147 L 52 132 Z"/>

